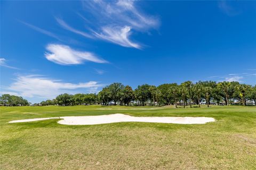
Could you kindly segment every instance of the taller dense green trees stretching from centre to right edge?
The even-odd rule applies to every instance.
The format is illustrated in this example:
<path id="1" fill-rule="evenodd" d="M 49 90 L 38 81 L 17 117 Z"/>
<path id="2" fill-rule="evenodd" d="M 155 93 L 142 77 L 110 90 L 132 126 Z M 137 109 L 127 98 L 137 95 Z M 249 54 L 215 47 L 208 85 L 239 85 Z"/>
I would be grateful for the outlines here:
<path id="1" fill-rule="evenodd" d="M 211 101 L 218 105 L 246 105 L 246 101 L 256 102 L 256 86 L 239 82 L 215 82 L 198 81 L 193 83 L 186 81 L 181 84 L 166 83 L 160 86 L 142 84 L 135 90 L 122 83 L 113 83 L 103 88 L 98 94 L 98 100 L 102 105 L 127 105 L 131 103 L 139 106 L 163 106 L 197 104 L 200 107 L 202 101 L 209 107 Z"/>

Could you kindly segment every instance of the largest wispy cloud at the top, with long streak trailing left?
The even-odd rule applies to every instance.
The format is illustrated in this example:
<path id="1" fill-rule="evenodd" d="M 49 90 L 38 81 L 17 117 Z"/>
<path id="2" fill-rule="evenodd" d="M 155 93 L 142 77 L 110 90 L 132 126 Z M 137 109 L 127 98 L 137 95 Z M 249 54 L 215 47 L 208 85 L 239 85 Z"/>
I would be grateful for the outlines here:
<path id="1" fill-rule="evenodd" d="M 87 38 L 98 38 L 123 47 L 141 48 L 141 44 L 131 40 L 131 30 L 147 32 L 156 29 L 159 20 L 138 10 L 133 1 L 83 1 L 87 16 L 79 16 L 86 23 L 86 31 L 70 27 L 65 21 L 56 18 L 62 28 Z M 93 19 L 93 20 L 90 20 Z"/>

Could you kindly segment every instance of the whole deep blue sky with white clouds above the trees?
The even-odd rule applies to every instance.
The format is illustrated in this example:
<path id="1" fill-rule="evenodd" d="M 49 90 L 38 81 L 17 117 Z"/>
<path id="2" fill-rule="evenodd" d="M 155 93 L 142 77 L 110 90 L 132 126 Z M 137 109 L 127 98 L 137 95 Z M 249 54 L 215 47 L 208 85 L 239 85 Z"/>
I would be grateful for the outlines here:
<path id="1" fill-rule="evenodd" d="M 112 82 L 256 84 L 253 1 L 1 1 L 1 94 L 32 103 Z"/>

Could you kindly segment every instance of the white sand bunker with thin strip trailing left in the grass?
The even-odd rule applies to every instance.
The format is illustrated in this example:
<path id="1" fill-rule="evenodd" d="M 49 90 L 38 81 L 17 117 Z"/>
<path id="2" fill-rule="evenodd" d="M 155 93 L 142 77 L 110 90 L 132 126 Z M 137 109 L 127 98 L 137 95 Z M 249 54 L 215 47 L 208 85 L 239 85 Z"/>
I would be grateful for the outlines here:
<path id="1" fill-rule="evenodd" d="M 48 118 L 32 118 L 26 120 L 11 121 L 9 123 L 34 122 L 49 119 L 62 119 L 59 124 L 66 125 L 93 125 L 117 122 L 149 122 L 149 123 L 175 123 L 175 124 L 205 124 L 214 122 L 212 117 L 134 117 L 124 114 L 111 114 L 100 116 L 64 116 Z"/>

